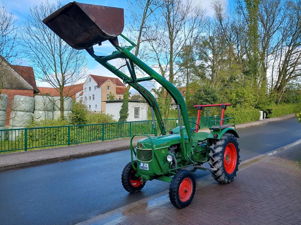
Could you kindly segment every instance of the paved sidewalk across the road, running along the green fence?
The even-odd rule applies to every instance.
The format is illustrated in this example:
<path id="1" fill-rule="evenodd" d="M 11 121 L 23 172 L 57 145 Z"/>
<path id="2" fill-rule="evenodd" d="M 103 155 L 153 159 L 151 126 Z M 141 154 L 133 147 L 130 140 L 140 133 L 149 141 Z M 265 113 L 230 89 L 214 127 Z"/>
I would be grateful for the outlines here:
<path id="1" fill-rule="evenodd" d="M 252 126 L 259 126 L 267 123 L 293 118 L 294 114 L 259 120 L 251 123 L 239 124 L 236 129 L 243 129 Z M 209 132 L 208 129 L 201 130 Z M 141 137 L 134 138 L 134 145 L 140 140 Z M 0 171 L 14 168 L 22 168 L 34 165 L 40 165 L 50 162 L 58 162 L 61 160 L 68 160 L 73 158 L 80 158 L 85 156 L 92 156 L 100 153 L 111 151 L 118 151 L 130 148 L 130 138 L 115 139 L 105 142 L 87 143 L 80 145 L 71 145 L 66 147 L 47 148 L 40 150 L 32 150 L 27 152 L 6 153 L 0 154 Z"/>

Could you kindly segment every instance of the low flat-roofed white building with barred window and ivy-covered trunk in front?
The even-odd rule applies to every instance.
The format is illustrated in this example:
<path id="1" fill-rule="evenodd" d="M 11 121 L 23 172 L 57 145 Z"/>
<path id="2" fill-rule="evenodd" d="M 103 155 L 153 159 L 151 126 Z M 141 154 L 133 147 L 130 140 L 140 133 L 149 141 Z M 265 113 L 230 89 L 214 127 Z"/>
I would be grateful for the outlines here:
<path id="1" fill-rule="evenodd" d="M 122 106 L 122 100 L 108 100 L 106 102 L 106 113 L 119 120 L 119 111 Z M 127 121 L 147 120 L 147 103 L 139 100 L 129 100 L 129 117 Z"/>

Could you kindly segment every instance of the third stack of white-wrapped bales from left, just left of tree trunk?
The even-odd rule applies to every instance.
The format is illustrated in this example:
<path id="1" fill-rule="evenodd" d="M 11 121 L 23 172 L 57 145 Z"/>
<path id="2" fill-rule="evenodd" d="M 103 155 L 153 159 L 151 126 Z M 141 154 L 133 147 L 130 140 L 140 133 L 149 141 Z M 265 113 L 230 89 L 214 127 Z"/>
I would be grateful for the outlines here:
<path id="1" fill-rule="evenodd" d="M 53 119 L 53 97 L 34 96 L 34 121 L 52 120 Z"/>

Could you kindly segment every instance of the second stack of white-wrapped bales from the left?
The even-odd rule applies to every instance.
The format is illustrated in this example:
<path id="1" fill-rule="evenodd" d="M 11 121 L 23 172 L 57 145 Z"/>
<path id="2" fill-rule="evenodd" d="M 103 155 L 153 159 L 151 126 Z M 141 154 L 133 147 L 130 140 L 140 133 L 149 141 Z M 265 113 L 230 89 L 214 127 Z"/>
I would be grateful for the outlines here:
<path id="1" fill-rule="evenodd" d="M 32 123 L 33 112 L 34 98 L 15 95 L 12 101 L 12 112 L 10 113 L 8 129 L 20 129 L 29 126 Z M 19 134 L 19 130 L 9 132 L 8 140 L 14 141 Z"/>

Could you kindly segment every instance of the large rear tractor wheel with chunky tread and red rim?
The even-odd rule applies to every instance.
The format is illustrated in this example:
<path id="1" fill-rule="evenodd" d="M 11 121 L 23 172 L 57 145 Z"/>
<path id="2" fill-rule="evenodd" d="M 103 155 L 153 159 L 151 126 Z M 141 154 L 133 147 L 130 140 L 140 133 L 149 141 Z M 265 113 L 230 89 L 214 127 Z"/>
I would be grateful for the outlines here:
<path id="1" fill-rule="evenodd" d="M 226 149 L 226 147 L 229 148 Z M 230 152 L 232 151 L 234 153 L 231 159 L 229 154 L 227 155 L 229 149 L 231 149 Z M 220 140 L 212 140 L 209 153 L 209 165 L 211 168 L 217 169 L 216 171 L 211 171 L 212 177 L 217 182 L 231 183 L 231 181 L 233 181 L 238 171 L 239 151 L 237 138 L 235 138 L 233 134 L 225 133 Z M 224 158 L 225 155 L 227 158 Z M 233 161 L 231 162 L 231 160 Z"/>

